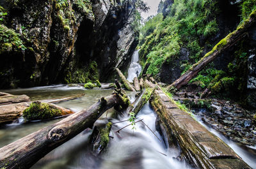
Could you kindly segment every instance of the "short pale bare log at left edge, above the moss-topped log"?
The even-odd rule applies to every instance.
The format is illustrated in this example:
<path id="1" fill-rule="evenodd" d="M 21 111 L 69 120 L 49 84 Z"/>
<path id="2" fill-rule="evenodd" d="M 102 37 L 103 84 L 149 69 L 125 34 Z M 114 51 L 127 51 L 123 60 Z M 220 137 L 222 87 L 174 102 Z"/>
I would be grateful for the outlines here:
<path id="1" fill-rule="evenodd" d="M 8 94 L 6 92 L 0 92 L 0 105 L 9 105 L 13 103 L 21 103 L 26 101 L 30 101 L 29 96 L 26 96 L 26 95 L 15 96 L 12 94 Z"/>

